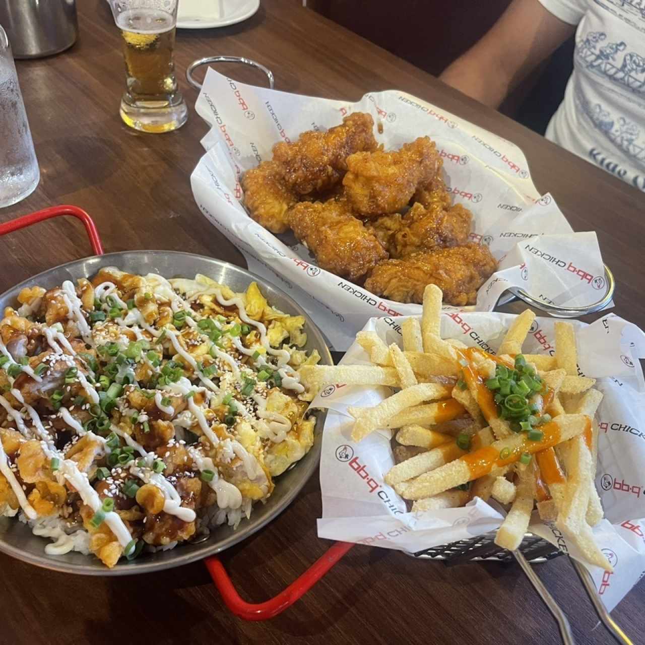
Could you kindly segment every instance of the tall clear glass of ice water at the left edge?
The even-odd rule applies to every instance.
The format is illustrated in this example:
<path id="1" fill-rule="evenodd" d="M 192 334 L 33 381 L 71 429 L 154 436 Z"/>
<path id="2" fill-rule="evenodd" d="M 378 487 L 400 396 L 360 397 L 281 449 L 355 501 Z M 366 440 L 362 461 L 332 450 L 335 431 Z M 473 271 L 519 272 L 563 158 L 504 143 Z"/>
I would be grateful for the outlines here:
<path id="1" fill-rule="evenodd" d="M 0 25 L 0 208 L 25 199 L 40 180 L 9 39 Z"/>

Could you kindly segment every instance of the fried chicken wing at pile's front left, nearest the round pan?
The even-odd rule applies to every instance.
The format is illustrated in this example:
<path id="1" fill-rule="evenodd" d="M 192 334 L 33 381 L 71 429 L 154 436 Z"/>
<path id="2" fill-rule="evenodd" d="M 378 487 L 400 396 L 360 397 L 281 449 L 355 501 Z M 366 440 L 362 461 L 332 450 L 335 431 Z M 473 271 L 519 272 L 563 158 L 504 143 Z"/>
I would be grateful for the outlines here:
<path id="1" fill-rule="evenodd" d="M 342 200 L 296 204 L 289 211 L 289 224 L 321 268 L 354 282 L 388 257 Z"/>

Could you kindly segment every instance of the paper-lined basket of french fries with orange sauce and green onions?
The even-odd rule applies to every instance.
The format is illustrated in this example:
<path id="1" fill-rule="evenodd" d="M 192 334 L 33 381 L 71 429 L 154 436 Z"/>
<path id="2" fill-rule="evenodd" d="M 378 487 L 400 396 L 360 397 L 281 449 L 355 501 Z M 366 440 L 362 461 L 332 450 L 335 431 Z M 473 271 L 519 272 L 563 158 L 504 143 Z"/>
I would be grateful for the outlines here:
<path id="1" fill-rule="evenodd" d="M 328 408 L 319 536 L 448 559 L 562 551 L 611 609 L 645 570 L 644 337 L 615 315 L 442 313 L 432 285 L 420 317 L 372 319 L 341 364 L 301 372 Z"/>

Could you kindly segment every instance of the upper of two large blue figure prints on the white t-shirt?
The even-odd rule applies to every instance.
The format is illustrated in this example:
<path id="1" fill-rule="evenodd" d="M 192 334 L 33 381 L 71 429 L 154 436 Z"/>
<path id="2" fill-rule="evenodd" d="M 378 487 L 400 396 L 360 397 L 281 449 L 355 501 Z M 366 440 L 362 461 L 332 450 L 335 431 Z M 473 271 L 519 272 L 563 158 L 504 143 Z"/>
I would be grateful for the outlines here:
<path id="1" fill-rule="evenodd" d="M 643 0 L 645 2 L 645 0 Z M 576 42 L 578 62 L 588 72 L 645 97 L 645 57 L 630 51 L 625 41 L 606 43 L 605 32 L 589 32 Z"/>

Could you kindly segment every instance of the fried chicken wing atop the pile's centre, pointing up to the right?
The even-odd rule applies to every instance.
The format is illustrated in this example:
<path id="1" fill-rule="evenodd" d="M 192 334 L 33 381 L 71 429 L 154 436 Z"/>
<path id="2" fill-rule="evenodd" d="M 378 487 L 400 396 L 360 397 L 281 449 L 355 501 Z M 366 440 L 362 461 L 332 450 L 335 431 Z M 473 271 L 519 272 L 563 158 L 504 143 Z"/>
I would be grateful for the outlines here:
<path id="1" fill-rule="evenodd" d="M 395 152 L 350 155 L 342 184 L 353 209 L 373 217 L 407 206 L 417 188 L 428 184 L 440 167 L 435 143 L 429 137 L 419 137 Z"/>

